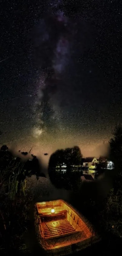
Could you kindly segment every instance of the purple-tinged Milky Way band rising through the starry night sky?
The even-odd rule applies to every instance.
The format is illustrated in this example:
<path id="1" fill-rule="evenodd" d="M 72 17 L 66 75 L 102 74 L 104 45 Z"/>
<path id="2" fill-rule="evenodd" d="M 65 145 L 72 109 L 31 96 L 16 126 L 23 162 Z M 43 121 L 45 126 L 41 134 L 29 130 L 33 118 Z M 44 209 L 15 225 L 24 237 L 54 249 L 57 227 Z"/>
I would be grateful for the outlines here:
<path id="1" fill-rule="evenodd" d="M 41 20 L 34 33 L 35 56 L 40 65 L 40 77 L 36 83 L 38 100 L 34 106 L 36 124 L 33 132 L 38 136 L 47 127 L 56 130 L 58 124 L 59 115 L 57 117 L 50 99 L 56 92 L 70 59 L 73 24 L 59 12 Z"/>

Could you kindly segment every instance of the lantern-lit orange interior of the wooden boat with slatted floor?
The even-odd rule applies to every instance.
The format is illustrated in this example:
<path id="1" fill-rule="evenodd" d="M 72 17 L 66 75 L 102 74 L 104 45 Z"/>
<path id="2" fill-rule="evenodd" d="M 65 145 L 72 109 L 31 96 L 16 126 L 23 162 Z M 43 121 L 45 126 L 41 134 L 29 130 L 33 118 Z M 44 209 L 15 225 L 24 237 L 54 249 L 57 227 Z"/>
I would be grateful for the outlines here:
<path id="1" fill-rule="evenodd" d="M 61 243 L 70 245 L 88 239 L 92 233 L 76 210 L 63 200 L 54 200 L 36 204 L 41 238 L 52 247 Z M 59 238 L 57 240 L 57 238 Z"/>

